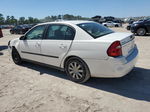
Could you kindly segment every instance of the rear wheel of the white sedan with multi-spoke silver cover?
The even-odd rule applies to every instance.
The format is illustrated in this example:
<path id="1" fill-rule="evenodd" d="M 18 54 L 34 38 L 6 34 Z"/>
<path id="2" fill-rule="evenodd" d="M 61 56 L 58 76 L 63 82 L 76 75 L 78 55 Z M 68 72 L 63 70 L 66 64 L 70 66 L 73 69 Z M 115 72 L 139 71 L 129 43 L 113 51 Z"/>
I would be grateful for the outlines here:
<path id="1" fill-rule="evenodd" d="M 69 79 L 77 83 L 84 83 L 91 76 L 87 64 L 77 57 L 67 60 L 65 63 L 65 71 L 69 76 Z"/>

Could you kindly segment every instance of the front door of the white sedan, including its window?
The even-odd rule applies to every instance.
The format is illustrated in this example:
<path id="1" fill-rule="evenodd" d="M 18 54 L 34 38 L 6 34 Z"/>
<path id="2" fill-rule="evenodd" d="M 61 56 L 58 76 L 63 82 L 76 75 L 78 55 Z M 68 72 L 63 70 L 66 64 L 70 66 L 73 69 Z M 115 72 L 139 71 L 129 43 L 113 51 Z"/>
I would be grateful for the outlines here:
<path id="1" fill-rule="evenodd" d="M 28 60 L 41 62 L 41 41 L 46 26 L 40 25 L 29 31 L 23 40 L 20 40 L 21 57 Z"/>

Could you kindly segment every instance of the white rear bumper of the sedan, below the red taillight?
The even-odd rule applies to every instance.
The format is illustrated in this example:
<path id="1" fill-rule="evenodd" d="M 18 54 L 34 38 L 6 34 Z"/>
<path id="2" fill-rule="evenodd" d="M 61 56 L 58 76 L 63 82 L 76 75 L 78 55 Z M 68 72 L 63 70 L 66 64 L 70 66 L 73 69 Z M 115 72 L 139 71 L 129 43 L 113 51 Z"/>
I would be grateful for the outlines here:
<path id="1" fill-rule="evenodd" d="M 138 49 L 128 57 L 109 58 L 108 60 L 90 60 L 84 61 L 89 66 L 91 77 L 115 78 L 128 74 L 135 66 L 138 57 Z"/>

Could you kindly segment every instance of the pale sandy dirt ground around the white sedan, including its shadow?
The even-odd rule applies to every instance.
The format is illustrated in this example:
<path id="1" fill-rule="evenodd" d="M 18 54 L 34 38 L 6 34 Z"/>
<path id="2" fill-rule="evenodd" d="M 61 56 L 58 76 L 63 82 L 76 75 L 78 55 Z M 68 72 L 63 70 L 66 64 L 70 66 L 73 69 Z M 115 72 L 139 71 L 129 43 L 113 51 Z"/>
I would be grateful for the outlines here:
<path id="1" fill-rule="evenodd" d="M 125 28 L 113 28 L 128 32 Z M 150 36 L 138 37 L 136 67 L 117 79 L 91 78 L 77 84 L 65 73 L 31 63 L 15 65 L 0 38 L 0 112 L 150 112 Z"/>

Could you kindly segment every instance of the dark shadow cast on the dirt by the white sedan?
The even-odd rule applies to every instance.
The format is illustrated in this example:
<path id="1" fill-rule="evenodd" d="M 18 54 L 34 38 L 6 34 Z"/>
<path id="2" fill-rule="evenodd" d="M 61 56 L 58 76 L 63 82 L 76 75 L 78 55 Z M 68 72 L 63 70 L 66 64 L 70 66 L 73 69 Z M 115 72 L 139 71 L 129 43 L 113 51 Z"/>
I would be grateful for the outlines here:
<path id="1" fill-rule="evenodd" d="M 23 66 L 39 71 L 40 75 L 46 73 L 68 80 L 65 72 L 57 69 L 28 62 L 24 63 Z M 135 67 L 128 75 L 122 78 L 91 78 L 82 85 L 150 102 L 150 69 Z"/>

